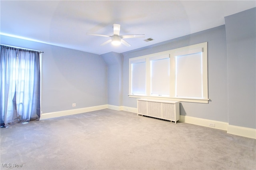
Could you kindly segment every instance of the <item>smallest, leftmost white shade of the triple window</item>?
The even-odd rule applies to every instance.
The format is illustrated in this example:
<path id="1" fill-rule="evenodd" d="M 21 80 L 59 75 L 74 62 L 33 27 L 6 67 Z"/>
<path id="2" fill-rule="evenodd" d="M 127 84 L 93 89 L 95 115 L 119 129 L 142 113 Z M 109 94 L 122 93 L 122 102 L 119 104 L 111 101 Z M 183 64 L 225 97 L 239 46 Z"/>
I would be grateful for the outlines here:
<path id="1" fill-rule="evenodd" d="M 132 94 L 146 94 L 146 62 L 132 63 Z"/>

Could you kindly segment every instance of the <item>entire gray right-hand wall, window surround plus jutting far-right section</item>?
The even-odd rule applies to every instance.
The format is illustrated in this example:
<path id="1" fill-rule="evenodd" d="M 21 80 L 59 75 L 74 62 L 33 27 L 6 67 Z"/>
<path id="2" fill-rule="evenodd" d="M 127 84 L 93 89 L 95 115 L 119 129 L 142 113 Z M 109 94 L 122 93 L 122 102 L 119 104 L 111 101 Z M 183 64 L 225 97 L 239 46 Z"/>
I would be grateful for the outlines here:
<path id="1" fill-rule="evenodd" d="M 127 96 L 129 58 L 208 42 L 209 103 L 181 102 L 180 114 L 256 128 L 256 8 L 225 17 L 225 26 L 122 53 L 123 105 L 137 107 Z"/>

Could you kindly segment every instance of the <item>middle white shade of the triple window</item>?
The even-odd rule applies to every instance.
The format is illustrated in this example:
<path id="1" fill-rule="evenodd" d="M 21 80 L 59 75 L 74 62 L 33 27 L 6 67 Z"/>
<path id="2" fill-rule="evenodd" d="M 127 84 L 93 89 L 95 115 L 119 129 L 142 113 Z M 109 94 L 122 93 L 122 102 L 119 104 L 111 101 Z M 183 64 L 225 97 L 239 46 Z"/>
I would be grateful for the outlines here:
<path id="1" fill-rule="evenodd" d="M 170 95 L 170 58 L 150 61 L 151 95 Z"/>

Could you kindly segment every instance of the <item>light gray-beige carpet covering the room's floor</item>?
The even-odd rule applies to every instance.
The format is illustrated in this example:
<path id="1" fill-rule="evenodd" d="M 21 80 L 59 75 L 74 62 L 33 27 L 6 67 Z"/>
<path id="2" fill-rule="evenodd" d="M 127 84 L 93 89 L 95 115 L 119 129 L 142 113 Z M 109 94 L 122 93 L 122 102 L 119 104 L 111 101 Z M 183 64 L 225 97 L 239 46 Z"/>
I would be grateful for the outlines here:
<path id="1" fill-rule="evenodd" d="M 31 121 L 0 132 L 1 170 L 256 169 L 255 139 L 126 111 Z"/>

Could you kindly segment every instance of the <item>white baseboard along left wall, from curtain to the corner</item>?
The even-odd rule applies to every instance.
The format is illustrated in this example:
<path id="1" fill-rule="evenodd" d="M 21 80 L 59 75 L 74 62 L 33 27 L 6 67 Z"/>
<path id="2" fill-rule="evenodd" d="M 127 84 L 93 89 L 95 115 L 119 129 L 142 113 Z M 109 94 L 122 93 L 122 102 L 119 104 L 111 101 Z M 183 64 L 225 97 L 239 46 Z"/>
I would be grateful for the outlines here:
<path id="1" fill-rule="evenodd" d="M 108 105 L 100 105 L 100 106 L 84 107 L 80 109 L 72 109 L 72 110 L 66 110 L 66 111 L 43 113 L 40 117 L 40 120 L 54 118 L 54 117 L 75 115 L 75 114 L 91 112 L 91 111 L 98 111 L 98 110 L 107 109 L 107 108 L 108 108 Z"/>

